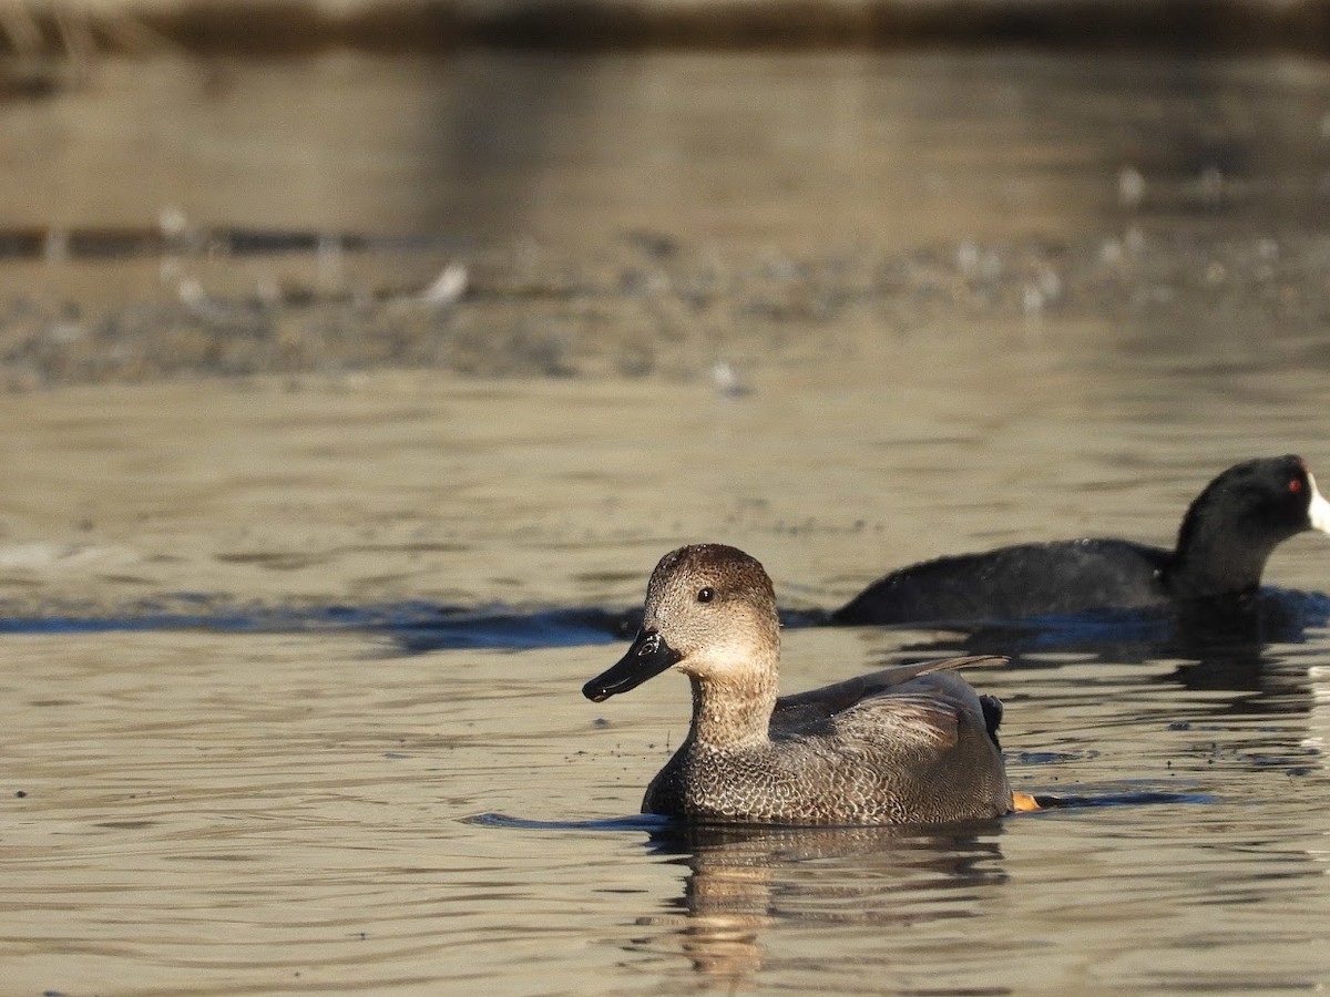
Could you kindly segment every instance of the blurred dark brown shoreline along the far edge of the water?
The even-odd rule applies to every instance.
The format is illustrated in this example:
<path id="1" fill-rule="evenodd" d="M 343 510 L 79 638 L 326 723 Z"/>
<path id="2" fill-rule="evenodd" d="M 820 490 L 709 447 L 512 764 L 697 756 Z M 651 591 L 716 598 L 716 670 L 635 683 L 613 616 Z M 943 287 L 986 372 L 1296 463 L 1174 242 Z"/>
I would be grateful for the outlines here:
<path id="1" fill-rule="evenodd" d="M 1330 0 L 0 0 L 20 55 L 648 48 L 1330 48 Z"/>

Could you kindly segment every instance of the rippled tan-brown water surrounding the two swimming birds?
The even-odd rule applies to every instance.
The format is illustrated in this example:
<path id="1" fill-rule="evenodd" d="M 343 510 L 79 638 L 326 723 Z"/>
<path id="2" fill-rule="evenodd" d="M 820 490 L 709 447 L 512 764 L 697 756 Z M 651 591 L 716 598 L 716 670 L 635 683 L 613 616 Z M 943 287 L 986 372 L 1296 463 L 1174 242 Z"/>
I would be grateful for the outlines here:
<path id="1" fill-rule="evenodd" d="M 739 316 L 729 338 L 674 342 L 674 360 L 640 376 L 613 364 L 509 379 L 338 368 L 0 396 L 5 992 L 1249 993 L 1330 981 L 1323 597 L 1290 596 L 1301 614 L 1279 627 L 1208 646 L 1145 619 L 979 635 L 791 626 L 787 689 L 976 642 L 1013 653 L 972 677 L 1008 705 L 1013 783 L 1081 802 L 896 832 L 690 837 L 633 819 L 685 731 L 685 683 L 587 703 L 581 682 L 621 645 L 604 621 L 559 617 L 636 604 L 656 558 L 692 540 L 758 556 L 787 608 L 831 608 L 886 568 L 940 553 L 1083 533 L 1169 542 L 1197 489 L 1241 457 L 1330 464 L 1330 312 L 1313 266 L 1326 74 L 943 56 L 646 65 L 597 62 L 595 100 L 568 105 L 597 122 L 601 145 L 556 130 L 517 170 L 513 144 L 535 140 L 485 130 L 497 165 L 459 175 L 493 187 L 472 190 L 459 233 L 488 245 L 531 230 L 573 269 L 580 246 L 624 226 L 673 234 L 689 261 L 714 254 L 721 267 L 771 246 L 798 263 L 833 241 L 841 253 L 871 238 L 871 257 L 914 239 L 934 247 L 942 270 L 930 273 L 996 288 L 991 307 L 939 292 L 895 299 L 891 323 L 874 304 L 745 324 L 739 286 L 705 315 Z M 180 109 L 161 110 L 144 141 L 186 160 L 227 150 L 246 185 L 198 183 L 214 175 L 200 166 L 165 193 L 88 193 L 101 199 L 72 203 L 65 221 L 141 225 L 177 202 L 210 225 L 440 230 L 447 198 L 431 183 L 458 199 L 456 181 L 426 170 L 434 154 L 416 146 L 460 132 L 404 118 L 436 110 L 436 93 L 450 97 L 446 121 L 481 106 L 479 84 L 450 89 L 467 74 L 497 93 L 505 78 L 528 90 L 544 78 L 512 70 L 230 68 L 247 100 L 290 92 L 269 100 L 293 121 L 301 101 L 380 101 L 382 113 L 364 132 L 301 133 L 309 148 L 358 152 L 313 156 L 299 179 L 261 138 L 209 144 L 197 94 L 164 92 Z M 112 72 L 108 89 L 133 78 Z M 725 88 L 749 112 L 745 141 L 724 141 L 724 116 L 708 116 Z M 226 136 L 237 112 L 217 100 L 209 134 Z M 40 148 L 51 118 L 94 106 L 81 94 L 5 113 Z M 184 124 L 168 126 L 172 113 Z M 908 142 L 883 138 L 911 124 Z M 104 134 L 117 128 L 125 118 L 109 114 Z M 1178 130 L 1205 149 L 1142 138 Z M 629 133 L 614 142 L 629 150 L 621 186 L 588 179 L 587 162 L 613 173 L 597 150 Z M 1214 157 L 1226 157 L 1226 186 L 1208 203 L 1197 185 Z M 645 162 L 674 167 L 680 186 L 652 186 L 654 171 L 633 171 Z M 805 186 L 830 162 L 845 165 L 838 179 Z M 1158 201 L 1119 203 L 1124 164 Z M 870 183 L 879 169 L 903 175 L 908 197 L 872 201 L 890 186 Z M 356 170 L 378 171 L 378 189 L 348 182 Z M 480 210 L 519 174 L 529 202 Z M 301 209 L 286 185 L 326 197 Z M 51 195 L 7 190 L 15 223 L 53 217 Z M 1048 298 L 1007 307 L 1037 278 L 1012 261 L 1041 234 L 1080 247 L 1057 257 L 1065 296 L 1036 280 Z M 1105 287 L 1087 275 L 1119 251 L 1140 254 L 1121 296 L 1075 290 Z M 126 298 L 146 299 L 162 295 L 156 265 L 25 261 L 7 280 L 39 274 L 41 294 L 86 300 L 118 273 Z M 255 265 L 209 266 L 239 286 L 250 278 L 235 271 Z M 145 283 L 125 284 L 118 267 Z M 842 286 L 823 287 L 826 300 Z M 587 355 L 596 348 L 613 346 Z M 717 360 L 746 392 L 722 389 Z M 1266 581 L 1323 593 L 1327 558 L 1325 538 L 1298 537 Z M 452 609 L 489 610 L 520 634 L 466 613 L 446 629 Z M 371 626 L 356 610 L 384 615 Z"/>

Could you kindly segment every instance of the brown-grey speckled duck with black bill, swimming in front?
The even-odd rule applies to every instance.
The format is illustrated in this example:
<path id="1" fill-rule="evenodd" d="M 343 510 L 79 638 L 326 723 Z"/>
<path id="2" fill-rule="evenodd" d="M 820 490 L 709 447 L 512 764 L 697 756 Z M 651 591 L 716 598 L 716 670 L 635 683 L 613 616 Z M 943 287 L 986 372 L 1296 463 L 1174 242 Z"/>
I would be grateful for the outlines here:
<path id="1" fill-rule="evenodd" d="M 766 824 L 900 824 L 1032 808 L 1012 796 L 996 730 L 1001 703 L 950 658 L 886 669 L 777 699 L 781 630 L 771 580 L 732 546 L 666 554 L 624 658 L 583 687 L 601 702 L 674 667 L 693 683 L 688 738 L 642 811 Z"/>

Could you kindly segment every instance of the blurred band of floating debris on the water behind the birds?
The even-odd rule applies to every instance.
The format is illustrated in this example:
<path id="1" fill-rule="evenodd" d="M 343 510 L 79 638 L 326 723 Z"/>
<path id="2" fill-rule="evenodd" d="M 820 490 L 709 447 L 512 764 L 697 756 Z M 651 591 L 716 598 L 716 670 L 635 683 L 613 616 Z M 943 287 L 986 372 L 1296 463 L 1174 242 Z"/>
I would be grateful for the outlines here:
<path id="1" fill-rule="evenodd" d="M 1037 335 L 1045 322 L 1092 319 L 1115 330 L 1100 343 L 1111 350 L 1186 350 L 1194 339 L 1246 343 L 1252 328 L 1314 339 L 1330 315 L 1330 284 L 1306 279 L 1330 267 L 1330 237 L 1313 235 L 1130 229 L 1057 243 L 721 255 L 637 233 L 577 258 L 529 245 L 410 262 L 362 257 L 338 263 L 335 286 L 318 282 L 311 259 L 269 261 L 257 267 L 269 275 L 247 288 L 225 262 L 176 266 L 192 275 L 153 300 L 5 303 L 0 387 L 418 367 L 712 378 L 742 392 L 763 367 L 818 362 L 861 340 L 964 336 L 995 322 Z M 249 262 L 246 274 L 254 270 Z"/>

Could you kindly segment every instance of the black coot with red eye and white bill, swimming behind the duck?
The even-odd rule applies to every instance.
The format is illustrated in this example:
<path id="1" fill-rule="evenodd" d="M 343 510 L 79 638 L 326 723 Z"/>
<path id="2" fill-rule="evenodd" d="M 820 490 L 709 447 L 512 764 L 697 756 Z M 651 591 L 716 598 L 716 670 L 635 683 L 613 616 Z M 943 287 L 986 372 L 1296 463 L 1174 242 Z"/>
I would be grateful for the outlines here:
<path id="1" fill-rule="evenodd" d="M 1105 538 L 943 557 L 879 578 L 831 621 L 960 622 L 1194 606 L 1254 593 L 1274 548 L 1306 529 L 1330 533 L 1330 502 L 1306 463 L 1294 455 L 1245 460 L 1196 497 L 1174 550 Z"/>

